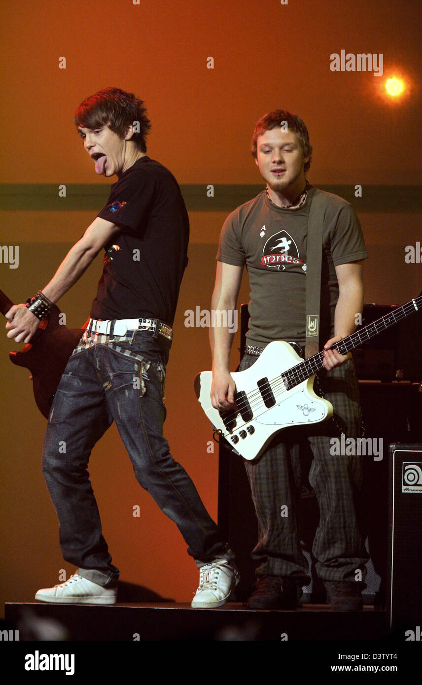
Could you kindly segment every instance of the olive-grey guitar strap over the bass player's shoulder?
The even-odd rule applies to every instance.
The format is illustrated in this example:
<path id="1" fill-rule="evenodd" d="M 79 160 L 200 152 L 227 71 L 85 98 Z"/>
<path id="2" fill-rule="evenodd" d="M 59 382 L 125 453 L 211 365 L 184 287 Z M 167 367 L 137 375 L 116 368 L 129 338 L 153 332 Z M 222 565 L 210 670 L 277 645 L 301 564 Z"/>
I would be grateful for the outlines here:
<path id="1" fill-rule="evenodd" d="M 319 352 L 321 309 L 321 264 L 323 225 L 327 194 L 314 188 L 308 219 L 306 250 L 306 345 L 305 359 Z"/>

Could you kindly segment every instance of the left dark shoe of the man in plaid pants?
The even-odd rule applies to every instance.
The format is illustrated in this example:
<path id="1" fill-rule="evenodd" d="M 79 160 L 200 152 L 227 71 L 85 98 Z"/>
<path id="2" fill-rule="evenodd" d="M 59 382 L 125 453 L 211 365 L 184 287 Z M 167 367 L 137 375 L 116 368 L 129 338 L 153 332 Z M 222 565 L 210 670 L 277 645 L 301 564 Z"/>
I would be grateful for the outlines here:
<path id="1" fill-rule="evenodd" d="M 253 586 L 248 609 L 296 609 L 302 591 L 297 584 L 280 575 L 262 575 Z"/>

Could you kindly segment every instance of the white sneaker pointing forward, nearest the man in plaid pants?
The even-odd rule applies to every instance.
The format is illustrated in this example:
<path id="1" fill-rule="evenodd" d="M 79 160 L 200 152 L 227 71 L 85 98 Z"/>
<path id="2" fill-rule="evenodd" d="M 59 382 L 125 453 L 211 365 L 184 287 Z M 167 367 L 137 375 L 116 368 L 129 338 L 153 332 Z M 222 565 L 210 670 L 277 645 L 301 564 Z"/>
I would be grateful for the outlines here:
<path id="1" fill-rule="evenodd" d="M 199 569 L 199 588 L 192 601 L 193 609 L 213 609 L 223 606 L 240 576 L 233 562 L 212 562 Z"/>

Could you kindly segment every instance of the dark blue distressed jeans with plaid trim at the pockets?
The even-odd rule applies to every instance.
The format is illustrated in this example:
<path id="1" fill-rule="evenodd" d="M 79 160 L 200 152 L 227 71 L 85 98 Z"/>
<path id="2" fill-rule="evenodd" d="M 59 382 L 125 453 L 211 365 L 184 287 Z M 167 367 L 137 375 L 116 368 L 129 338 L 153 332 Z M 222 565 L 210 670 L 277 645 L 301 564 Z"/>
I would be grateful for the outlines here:
<path id="1" fill-rule="evenodd" d="M 119 569 L 101 533 L 87 469 L 92 447 L 113 421 L 138 482 L 175 521 L 197 566 L 233 558 L 162 434 L 170 347 L 169 340 L 149 331 L 113 338 L 85 332 L 51 406 L 42 471 L 60 522 L 63 557 L 102 586 L 114 586 Z"/>

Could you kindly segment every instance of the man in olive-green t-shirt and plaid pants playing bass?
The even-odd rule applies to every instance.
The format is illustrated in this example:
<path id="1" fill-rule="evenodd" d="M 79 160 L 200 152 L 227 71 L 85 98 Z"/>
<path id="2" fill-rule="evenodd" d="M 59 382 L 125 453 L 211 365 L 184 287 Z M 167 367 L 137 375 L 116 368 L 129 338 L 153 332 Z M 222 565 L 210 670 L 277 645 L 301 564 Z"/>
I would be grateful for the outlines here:
<path id="1" fill-rule="evenodd" d="M 293 343 L 303 354 L 308 231 L 316 229 L 310 223 L 310 206 L 322 195 L 320 331 L 325 352 L 316 391 L 319 387 L 332 403 L 334 420 L 288 427 L 274 436 L 260 459 L 245 462 L 258 518 L 259 540 L 252 556 L 260 562 L 248 606 L 295 608 L 301 586 L 310 580 L 298 526 L 303 457 L 310 449 L 309 482 L 321 514 L 312 548 L 316 572 L 333 609 L 361 610 L 368 559 L 360 518 L 362 463 L 358 456 L 332 456 L 330 447 L 332 437 L 341 432 L 350 438 L 360 436 L 353 361 L 350 353 L 343 356 L 331 347 L 354 331 L 356 314 L 362 312 L 362 260 L 367 258 L 362 230 L 348 202 L 307 182 L 312 146 L 298 116 L 284 110 L 263 116 L 253 133 L 251 152 L 266 188 L 229 214 L 223 225 L 212 309 L 236 308 L 246 266 L 250 320 L 239 371 L 252 366 L 273 340 Z M 211 399 L 221 411 L 235 405 L 236 386 L 229 373 L 232 338 L 229 329 L 211 330 Z"/>

